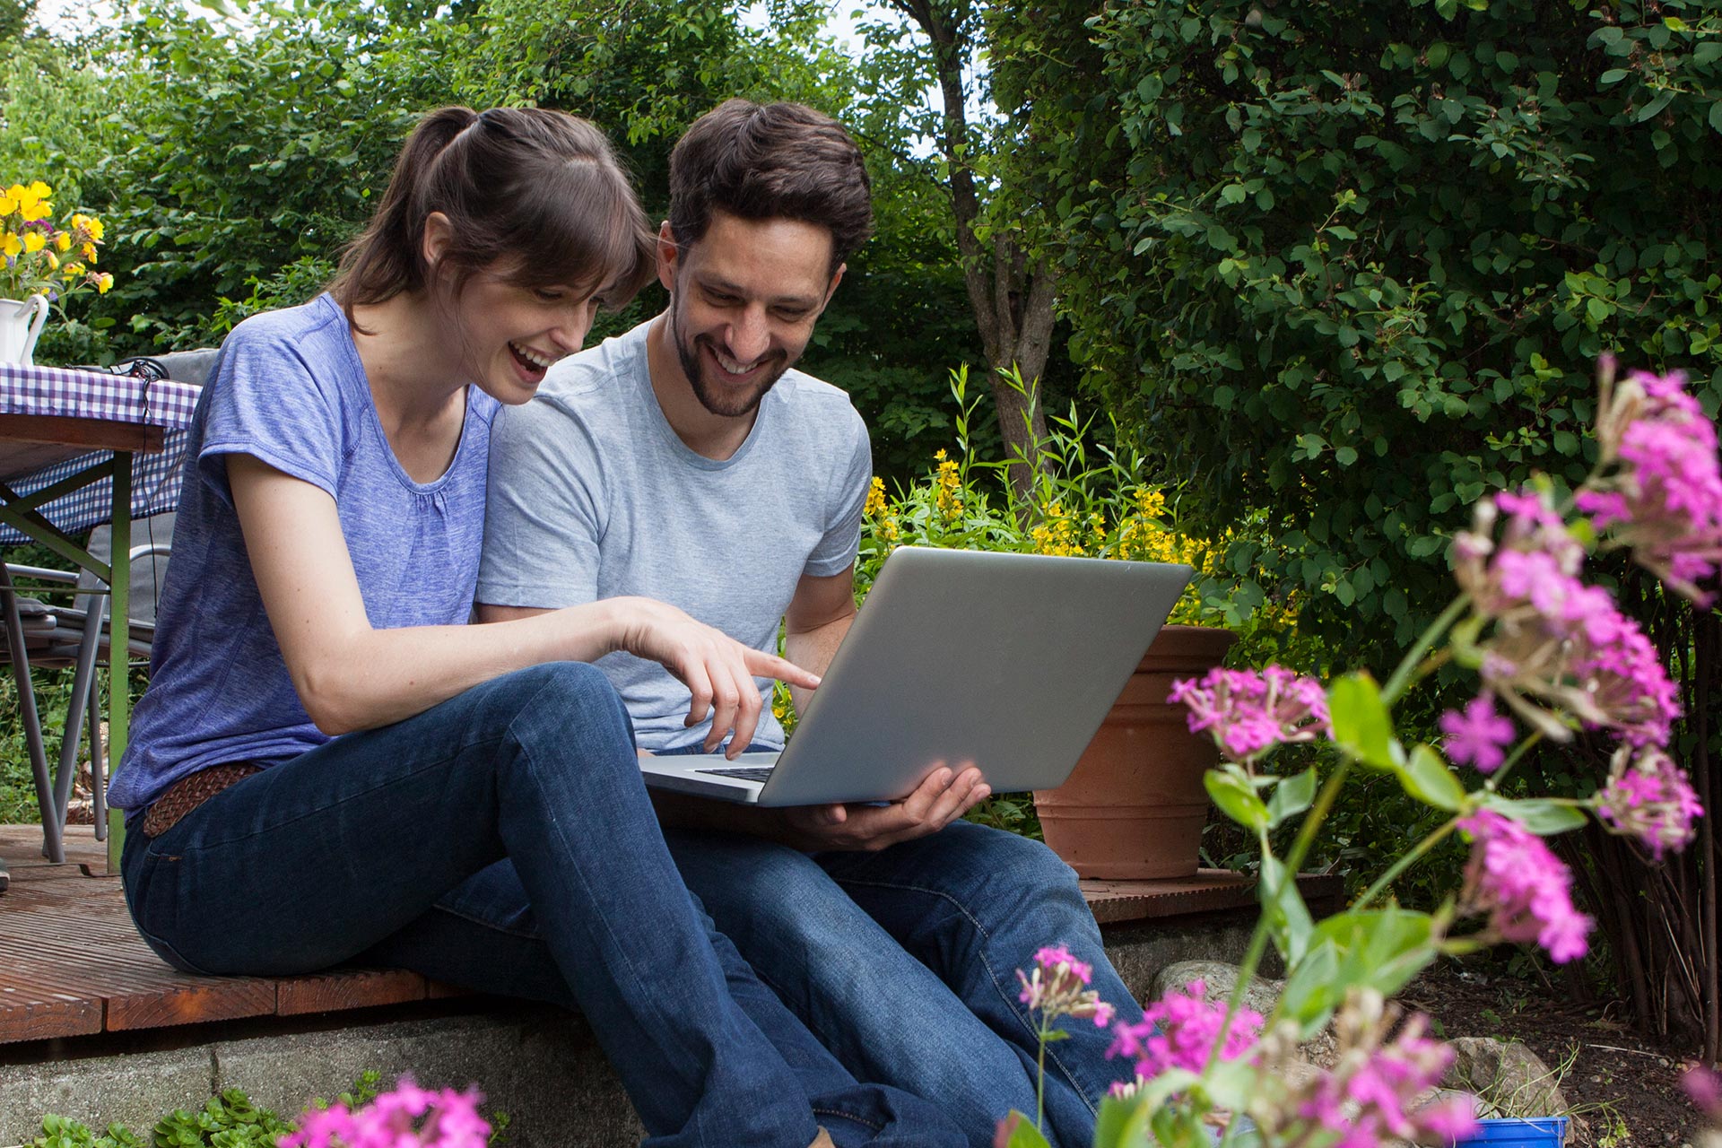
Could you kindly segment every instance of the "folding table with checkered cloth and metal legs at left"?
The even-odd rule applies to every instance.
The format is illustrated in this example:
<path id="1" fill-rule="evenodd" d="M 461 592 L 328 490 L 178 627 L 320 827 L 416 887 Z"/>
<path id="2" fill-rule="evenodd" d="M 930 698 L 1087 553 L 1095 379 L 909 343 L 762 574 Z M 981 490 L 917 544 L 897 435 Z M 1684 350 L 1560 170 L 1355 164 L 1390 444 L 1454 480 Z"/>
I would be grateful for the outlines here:
<path id="1" fill-rule="evenodd" d="M 0 363 L 0 544 L 40 542 L 108 585 L 108 625 L 117 645 L 108 657 L 108 764 L 126 752 L 131 716 L 124 656 L 131 589 L 131 520 L 172 509 L 179 501 L 186 427 L 201 387 L 98 370 Z M 72 534 L 112 525 L 112 563 L 90 554 Z M 17 597 L 3 592 L 5 630 L 14 664 L 24 664 Z M 114 630 L 110 630 L 112 633 Z M 36 769 L 43 852 L 64 861 L 62 826 L 40 740 L 34 694 L 19 690 Z M 108 812 L 108 867 L 119 869 L 121 814 Z"/>

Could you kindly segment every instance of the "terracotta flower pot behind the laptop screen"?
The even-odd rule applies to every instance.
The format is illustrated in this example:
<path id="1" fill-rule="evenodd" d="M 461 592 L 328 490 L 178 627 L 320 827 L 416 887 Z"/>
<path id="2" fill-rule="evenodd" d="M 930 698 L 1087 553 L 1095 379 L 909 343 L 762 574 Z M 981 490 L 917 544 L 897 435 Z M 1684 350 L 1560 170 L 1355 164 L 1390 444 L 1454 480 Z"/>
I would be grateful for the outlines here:
<path id="1" fill-rule="evenodd" d="M 1209 805 L 1202 775 L 1219 750 L 1207 735 L 1190 733 L 1185 707 L 1166 695 L 1176 678 L 1217 666 L 1233 640 L 1228 630 L 1162 626 L 1069 780 L 1035 790 L 1047 845 L 1078 874 L 1145 880 L 1197 871 Z"/>

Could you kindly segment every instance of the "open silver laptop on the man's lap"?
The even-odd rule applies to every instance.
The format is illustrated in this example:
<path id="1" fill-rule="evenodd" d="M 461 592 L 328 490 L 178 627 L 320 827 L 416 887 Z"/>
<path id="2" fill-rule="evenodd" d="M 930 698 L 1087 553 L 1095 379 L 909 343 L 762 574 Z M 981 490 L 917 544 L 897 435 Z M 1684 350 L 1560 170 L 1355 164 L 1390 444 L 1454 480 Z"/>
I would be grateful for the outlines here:
<path id="1" fill-rule="evenodd" d="M 1190 566 L 904 546 L 782 754 L 642 757 L 646 783 L 758 805 L 907 797 L 940 764 L 994 793 L 1069 776 Z"/>

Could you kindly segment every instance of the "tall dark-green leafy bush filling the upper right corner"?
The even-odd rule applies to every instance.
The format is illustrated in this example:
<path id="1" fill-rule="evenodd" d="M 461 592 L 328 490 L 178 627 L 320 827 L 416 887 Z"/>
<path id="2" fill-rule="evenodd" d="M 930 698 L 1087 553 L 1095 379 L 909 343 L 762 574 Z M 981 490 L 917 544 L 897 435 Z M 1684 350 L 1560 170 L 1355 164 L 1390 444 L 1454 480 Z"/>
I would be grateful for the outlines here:
<path id="1" fill-rule="evenodd" d="M 999 64 L 1073 348 L 1199 530 L 1271 511 L 1228 565 L 1336 647 L 1419 632 L 1486 489 L 1583 473 L 1598 353 L 1717 411 L 1710 5 L 1088 12 L 1013 7 Z"/>

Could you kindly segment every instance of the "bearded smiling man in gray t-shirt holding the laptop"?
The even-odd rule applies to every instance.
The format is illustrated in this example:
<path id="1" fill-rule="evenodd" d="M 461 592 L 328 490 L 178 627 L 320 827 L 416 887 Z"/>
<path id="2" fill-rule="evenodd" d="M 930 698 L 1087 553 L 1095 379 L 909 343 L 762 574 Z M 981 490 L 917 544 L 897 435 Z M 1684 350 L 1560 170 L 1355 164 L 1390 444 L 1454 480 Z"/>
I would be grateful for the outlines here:
<path id="1" fill-rule="evenodd" d="M 730 100 L 689 129 L 658 241 L 668 308 L 553 367 L 492 432 L 480 618 L 639 594 L 766 651 L 782 623 L 785 656 L 825 670 L 854 620 L 871 453 L 847 396 L 794 363 L 871 231 L 868 196 L 854 143 L 809 108 Z M 718 730 L 734 714 L 737 740 L 784 744 L 754 682 L 598 664 L 642 752 L 716 745 L 689 694 Z M 961 821 L 987 793 L 963 768 L 885 807 L 658 804 L 689 888 L 759 976 L 856 1076 L 935 1098 L 976 1145 L 1035 1110 L 1014 969 L 1037 948 L 1068 945 L 1104 1000 L 1131 1003 L 1075 874 Z M 1049 1131 L 1087 1145 L 1126 1069 L 1104 1029 L 1069 1028 L 1047 1050 Z"/>

